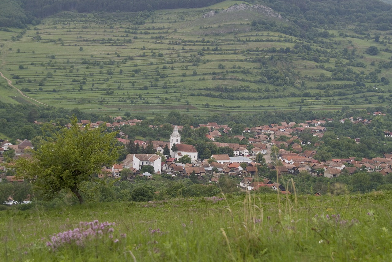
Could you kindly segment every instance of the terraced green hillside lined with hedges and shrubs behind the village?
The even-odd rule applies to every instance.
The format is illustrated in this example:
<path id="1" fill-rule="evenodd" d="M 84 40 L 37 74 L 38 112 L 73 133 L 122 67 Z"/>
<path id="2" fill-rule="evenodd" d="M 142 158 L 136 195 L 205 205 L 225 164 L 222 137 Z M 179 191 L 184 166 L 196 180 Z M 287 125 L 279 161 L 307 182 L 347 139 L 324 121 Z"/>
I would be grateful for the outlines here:
<path id="1" fill-rule="evenodd" d="M 42 103 L 99 114 L 179 110 L 205 117 L 389 105 L 392 73 L 379 69 L 390 61 L 388 31 L 368 30 L 380 35 L 375 42 L 354 33 L 354 25 L 336 26 L 328 37 L 306 42 L 252 26 L 265 19 L 290 27 L 290 21 L 221 12 L 234 4 L 141 12 L 142 25 L 131 13 L 59 13 L 27 30 L 0 31 L 0 71 Z M 203 18 L 209 11 L 216 13 Z M 387 51 L 370 55 L 369 46 Z M 12 92 L 2 88 L 1 101 L 25 102 Z"/>

